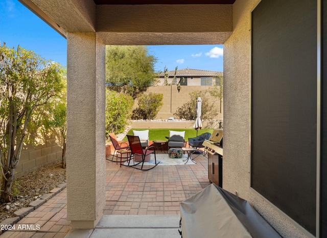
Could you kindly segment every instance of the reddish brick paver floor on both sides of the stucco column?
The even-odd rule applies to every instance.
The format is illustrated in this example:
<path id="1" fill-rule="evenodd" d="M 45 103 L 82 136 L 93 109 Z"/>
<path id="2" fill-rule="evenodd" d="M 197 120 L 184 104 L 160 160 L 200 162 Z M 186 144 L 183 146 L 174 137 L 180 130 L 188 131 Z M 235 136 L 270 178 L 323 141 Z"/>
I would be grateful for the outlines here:
<path id="1" fill-rule="evenodd" d="M 156 166 L 149 171 L 106 161 L 104 215 L 178 215 L 179 203 L 210 183 L 207 158 L 196 165 Z M 1 237 L 64 237 L 70 229 L 66 189 L 15 224 Z"/>

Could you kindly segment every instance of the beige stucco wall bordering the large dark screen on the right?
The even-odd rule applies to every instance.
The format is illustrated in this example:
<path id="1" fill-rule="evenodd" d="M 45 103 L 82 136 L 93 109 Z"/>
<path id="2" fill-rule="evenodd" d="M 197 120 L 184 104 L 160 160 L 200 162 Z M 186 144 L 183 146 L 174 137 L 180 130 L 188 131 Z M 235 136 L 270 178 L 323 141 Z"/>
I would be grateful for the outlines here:
<path id="1" fill-rule="evenodd" d="M 307 237 L 291 219 L 250 188 L 251 11 L 259 2 L 236 1 L 234 31 L 224 44 L 223 188 L 233 194 L 237 191 L 283 237 Z"/>

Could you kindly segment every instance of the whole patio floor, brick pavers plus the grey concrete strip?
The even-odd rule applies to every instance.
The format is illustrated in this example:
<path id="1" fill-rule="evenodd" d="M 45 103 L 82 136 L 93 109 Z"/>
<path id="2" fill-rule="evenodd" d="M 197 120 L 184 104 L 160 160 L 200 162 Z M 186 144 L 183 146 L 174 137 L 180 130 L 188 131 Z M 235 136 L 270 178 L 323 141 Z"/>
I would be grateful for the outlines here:
<path id="1" fill-rule="evenodd" d="M 8 230 L 1 237 L 107 237 L 110 232 L 121 232 L 115 233 L 115 237 L 128 232 L 134 235 L 141 232 L 139 237 L 153 237 L 152 232 L 157 237 L 180 237 L 180 202 L 210 184 L 207 158 L 199 155 L 196 162 L 141 171 L 106 161 L 106 202 L 102 220 L 95 229 L 71 229 L 71 222 L 66 219 L 67 189 L 64 189 L 15 224 L 34 229 Z M 142 219 L 143 222 L 137 223 L 147 228 L 134 227 L 135 219 Z"/>

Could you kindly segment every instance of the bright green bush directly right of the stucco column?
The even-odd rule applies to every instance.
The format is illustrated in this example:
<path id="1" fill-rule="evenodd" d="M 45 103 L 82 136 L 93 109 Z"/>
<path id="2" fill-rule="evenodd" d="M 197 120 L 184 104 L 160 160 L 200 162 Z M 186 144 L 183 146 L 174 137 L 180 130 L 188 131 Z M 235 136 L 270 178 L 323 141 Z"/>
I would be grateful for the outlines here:
<path id="1" fill-rule="evenodd" d="M 106 90 L 106 136 L 109 133 L 122 133 L 130 119 L 134 100 L 131 96 Z"/>

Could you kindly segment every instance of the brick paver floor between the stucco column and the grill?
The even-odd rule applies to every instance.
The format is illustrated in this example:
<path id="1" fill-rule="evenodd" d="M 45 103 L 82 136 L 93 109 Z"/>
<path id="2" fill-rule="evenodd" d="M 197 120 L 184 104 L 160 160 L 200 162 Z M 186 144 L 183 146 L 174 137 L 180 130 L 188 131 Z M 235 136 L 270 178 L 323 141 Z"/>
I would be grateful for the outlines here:
<path id="1" fill-rule="evenodd" d="M 195 161 L 195 165 L 156 166 L 149 171 L 106 161 L 103 214 L 179 215 L 179 203 L 210 184 L 207 158 L 199 155 Z"/>

